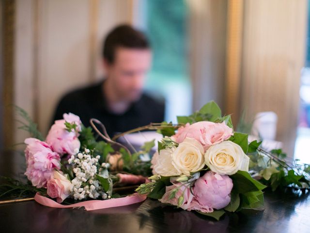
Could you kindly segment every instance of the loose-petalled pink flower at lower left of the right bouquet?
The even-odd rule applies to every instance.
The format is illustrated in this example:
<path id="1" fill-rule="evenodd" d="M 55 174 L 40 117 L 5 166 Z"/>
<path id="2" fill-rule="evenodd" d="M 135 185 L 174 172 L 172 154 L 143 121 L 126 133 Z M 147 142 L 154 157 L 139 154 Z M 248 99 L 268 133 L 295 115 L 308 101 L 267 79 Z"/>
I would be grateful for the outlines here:
<path id="1" fill-rule="evenodd" d="M 169 200 L 169 195 L 171 194 L 171 191 L 176 188 L 180 187 L 178 191 L 175 194 L 175 197 Z M 184 210 L 198 210 L 203 213 L 210 213 L 213 212 L 213 209 L 207 205 L 202 205 L 198 202 L 198 200 L 194 197 L 194 195 L 190 192 L 189 188 L 185 185 L 182 186 L 181 183 L 172 183 L 172 185 L 166 187 L 166 193 L 164 196 L 159 199 L 162 203 L 168 203 L 171 205 L 178 205 L 178 199 L 183 194 L 183 204 L 180 206 Z"/>

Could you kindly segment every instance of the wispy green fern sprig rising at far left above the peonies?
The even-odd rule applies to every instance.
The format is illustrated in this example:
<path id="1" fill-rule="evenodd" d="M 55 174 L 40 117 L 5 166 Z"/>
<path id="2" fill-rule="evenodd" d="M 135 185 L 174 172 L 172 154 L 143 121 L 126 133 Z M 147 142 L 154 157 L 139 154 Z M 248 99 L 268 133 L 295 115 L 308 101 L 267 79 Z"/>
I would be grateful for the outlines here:
<path id="1" fill-rule="evenodd" d="M 28 113 L 24 109 L 18 106 L 15 106 L 15 111 L 18 116 L 20 116 L 24 121 L 26 121 L 25 123 L 24 121 L 16 120 L 17 122 L 21 124 L 21 126 L 19 126 L 18 129 L 27 131 L 28 133 L 30 133 L 31 137 L 44 141 L 44 137 L 38 131 L 38 125 L 32 121 Z"/>

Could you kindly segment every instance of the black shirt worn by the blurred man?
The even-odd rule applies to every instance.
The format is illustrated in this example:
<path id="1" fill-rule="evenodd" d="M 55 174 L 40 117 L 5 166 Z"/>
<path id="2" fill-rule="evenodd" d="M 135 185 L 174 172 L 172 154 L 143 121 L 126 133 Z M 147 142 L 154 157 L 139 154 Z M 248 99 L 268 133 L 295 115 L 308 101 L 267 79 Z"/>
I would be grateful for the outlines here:
<path id="1" fill-rule="evenodd" d="M 124 114 L 113 114 L 108 110 L 103 82 L 100 82 L 65 95 L 57 106 L 54 120 L 62 119 L 64 113 L 78 115 L 86 127 L 90 126 L 91 118 L 96 118 L 105 125 L 109 136 L 113 136 L 151 122 L 162 122 L 165 104 L 142 94 L 140 100 L 132 103 Z"/>

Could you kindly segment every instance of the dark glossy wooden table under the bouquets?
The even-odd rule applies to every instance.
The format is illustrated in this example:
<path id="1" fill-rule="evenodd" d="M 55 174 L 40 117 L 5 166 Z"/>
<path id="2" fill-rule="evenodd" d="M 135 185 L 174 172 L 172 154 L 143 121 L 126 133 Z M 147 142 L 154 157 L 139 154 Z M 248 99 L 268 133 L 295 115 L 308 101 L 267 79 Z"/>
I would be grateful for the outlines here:
<path id="1" fill-rule="evenodd" d="M 22 157 L 0 154 L 0 174 L 13 175 Z M 6 163 L 3 163 L 3 162 Z M 7 166 L 7 162 L 11 166 Z M 22 167 L 20 167 L 22 169 Z M 15 173 L 16 174 L 16 173 Z M 265 192 L 265 210 L 244 210 L 219 221 L 175 209 L 156 200 L 105 210 L 56 209 L 34 201 L 0 205 L 0 233 L 310 233 L 309 192 Z"/>

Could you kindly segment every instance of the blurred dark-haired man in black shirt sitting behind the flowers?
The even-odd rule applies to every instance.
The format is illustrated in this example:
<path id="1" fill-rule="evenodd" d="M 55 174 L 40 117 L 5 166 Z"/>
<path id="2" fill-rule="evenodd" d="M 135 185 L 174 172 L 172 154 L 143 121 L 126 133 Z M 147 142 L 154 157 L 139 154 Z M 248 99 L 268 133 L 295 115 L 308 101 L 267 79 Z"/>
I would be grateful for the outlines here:
<path id="1" fill-rule="evenodd" d="M 149 41 L 144 34 L 128 25 L 116 27 L 103 44 L 105 79 L 65 95 L 57 106 L 54 120 L 70 112 L 89 126 L 90 118 L 97 118 L 110 136 L 150 122 L 162 122 L 164 103 L 143 93 L 151 59 Z"/>

